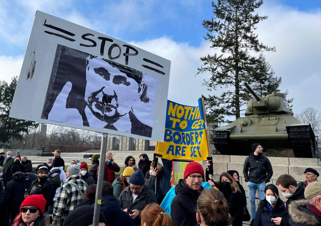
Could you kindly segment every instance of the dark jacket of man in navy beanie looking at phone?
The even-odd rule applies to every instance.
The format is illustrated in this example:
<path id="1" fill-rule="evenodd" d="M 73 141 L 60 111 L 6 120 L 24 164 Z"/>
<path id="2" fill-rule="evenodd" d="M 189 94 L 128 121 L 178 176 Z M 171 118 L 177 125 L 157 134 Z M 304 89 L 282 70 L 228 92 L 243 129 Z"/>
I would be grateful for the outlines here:
<path id="1" fill-rule="evenodd" d="M 128 210 L 138 210 L 139 211 L 139 217 L 136 217 L 134 222 L 135 225 L 140 225 L 141 218 L 140 214 L 142 213 L 143 208 L 150 203 L 157 203 L 156 195 L 155 193 L 148 187 L 144 186 L 143 190 L 138 194 L 137 198 L 135 199 L 133 203 L 133 196 L 132 191 L 129 189 L 129 186 L 127 186 L 123 192 L 120 194 L 119 197 L 119 205 L 122 210 L 128 209 Z"/>

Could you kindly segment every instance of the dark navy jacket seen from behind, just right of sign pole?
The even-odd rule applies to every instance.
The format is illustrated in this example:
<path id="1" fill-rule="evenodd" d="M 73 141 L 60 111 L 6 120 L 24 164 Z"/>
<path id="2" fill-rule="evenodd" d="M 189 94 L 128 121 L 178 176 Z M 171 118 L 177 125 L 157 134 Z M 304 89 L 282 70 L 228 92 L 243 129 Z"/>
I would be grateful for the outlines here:
<path id="1" fill-rule="evenodd" d="M 138 197 L 137 197 L 138 198 Z M 92 204 L 94 206 L 95 204 Z M 108 226 L 134 226 L 134 220 L 120 209 L 117 198 L 112 195 L 101 197 L 100 213 L 106 216 Z"/>

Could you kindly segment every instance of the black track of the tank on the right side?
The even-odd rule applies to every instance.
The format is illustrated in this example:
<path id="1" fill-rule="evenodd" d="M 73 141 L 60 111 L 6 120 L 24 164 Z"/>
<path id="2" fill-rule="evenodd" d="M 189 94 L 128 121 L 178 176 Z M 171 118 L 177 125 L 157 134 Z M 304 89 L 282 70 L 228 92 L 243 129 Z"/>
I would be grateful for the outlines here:
<path id="1" fill-rule="evenodd" d="M 296 158 L 313 158 L 315 142 L 309 125 L 289 126 L 289 140 Z"/>

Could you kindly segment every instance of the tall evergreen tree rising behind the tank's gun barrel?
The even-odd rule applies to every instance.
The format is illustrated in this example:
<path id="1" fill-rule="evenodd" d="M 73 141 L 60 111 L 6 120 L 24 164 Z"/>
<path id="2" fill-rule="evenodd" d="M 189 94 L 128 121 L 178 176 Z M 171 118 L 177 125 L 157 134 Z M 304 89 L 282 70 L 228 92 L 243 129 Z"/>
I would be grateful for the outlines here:
<path id="1" fill-rule="evenodd" d="M 271 65 L 266 62 L 263 51 L 275 51 L 259 42 L 254 33 L 256 24 L 267 16 L 259 16 L 254 11 L 263 0 L 218 0 L 212 2 L 215 17 L 204 20 L 207 29 L 205 40 L 220 54 L 201 57 L 203 65 L 198 74 L 209 72 L 211 78 L 203 85 L 209 91 L 224 88 L 218 95 L 205 98 L 208 121 L 230 122 L 231 117 L 238 119 L 241 109 L 250 98 L 248 90 L 241 86 L 248 82 L 259 95 L 265 96 L 272 91 L 280 91 L 281 78 L 274 76 Z M 261 53 L 259 56 L 251 53 Z"/>

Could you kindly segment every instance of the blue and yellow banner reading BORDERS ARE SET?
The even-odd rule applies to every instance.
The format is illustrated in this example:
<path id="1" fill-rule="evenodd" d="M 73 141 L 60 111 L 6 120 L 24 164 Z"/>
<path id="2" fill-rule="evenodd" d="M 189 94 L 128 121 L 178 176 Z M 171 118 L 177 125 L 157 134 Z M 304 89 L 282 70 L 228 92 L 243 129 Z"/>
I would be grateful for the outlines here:
<path id="1" fill-rule="evenodd" d="M 158 142 L 157 156 L 169 160 L 206 160 L 208 146 L 201 98 L 198 104 L 192 107 L 167 101 L 164 142 Z"/>

